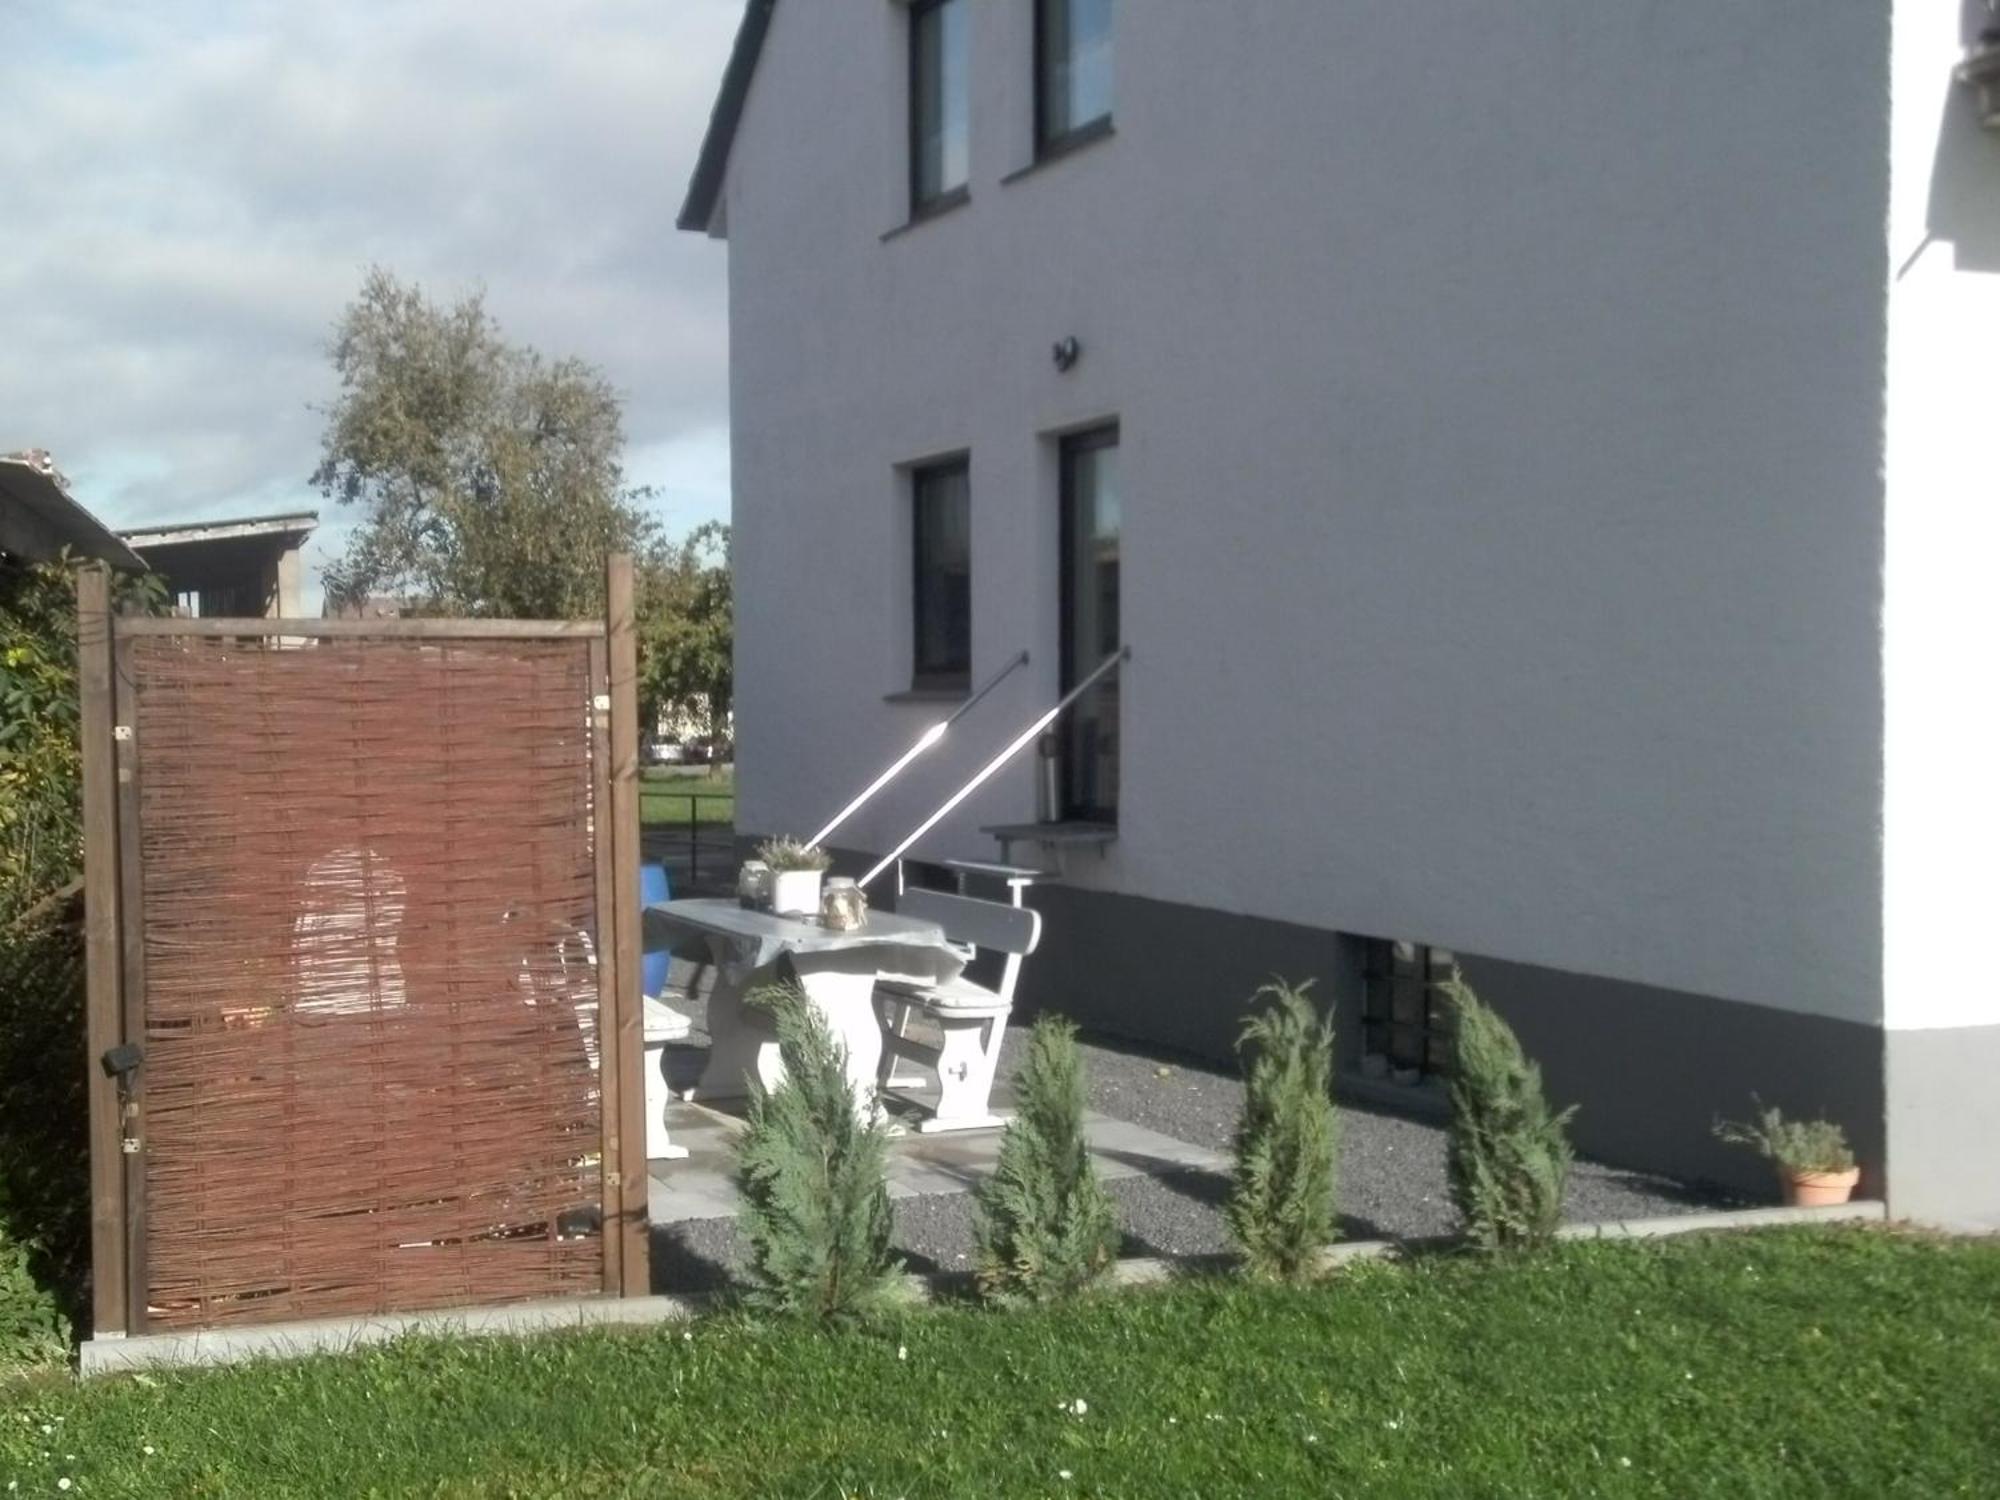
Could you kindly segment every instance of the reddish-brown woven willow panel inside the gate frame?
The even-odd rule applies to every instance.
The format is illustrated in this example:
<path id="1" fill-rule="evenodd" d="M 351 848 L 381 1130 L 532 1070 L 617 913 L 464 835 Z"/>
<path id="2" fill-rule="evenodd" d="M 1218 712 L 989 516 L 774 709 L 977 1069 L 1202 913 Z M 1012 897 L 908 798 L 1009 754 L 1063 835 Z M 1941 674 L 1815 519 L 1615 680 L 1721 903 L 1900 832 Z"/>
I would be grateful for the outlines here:
<path id="1" fill-rule="evenodd" d="M 134 642 L 152 1326 L 602 1288 L 588 662 Z"/>

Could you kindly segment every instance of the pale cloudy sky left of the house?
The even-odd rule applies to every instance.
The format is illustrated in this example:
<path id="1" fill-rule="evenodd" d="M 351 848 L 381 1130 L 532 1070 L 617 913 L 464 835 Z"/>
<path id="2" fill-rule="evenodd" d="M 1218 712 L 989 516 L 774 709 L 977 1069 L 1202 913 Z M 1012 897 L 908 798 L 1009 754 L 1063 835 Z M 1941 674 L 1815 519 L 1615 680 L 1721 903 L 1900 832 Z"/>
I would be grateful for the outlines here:
<path id="1" fill-rule="evenodd" d="M 0 452 L 116 528 L 318 510 L 372 264 L 484 288 L 624 396 L 672 532 L 728 516 L 724 250 L 674 230 L 742 0 L 0 0 Z"/>

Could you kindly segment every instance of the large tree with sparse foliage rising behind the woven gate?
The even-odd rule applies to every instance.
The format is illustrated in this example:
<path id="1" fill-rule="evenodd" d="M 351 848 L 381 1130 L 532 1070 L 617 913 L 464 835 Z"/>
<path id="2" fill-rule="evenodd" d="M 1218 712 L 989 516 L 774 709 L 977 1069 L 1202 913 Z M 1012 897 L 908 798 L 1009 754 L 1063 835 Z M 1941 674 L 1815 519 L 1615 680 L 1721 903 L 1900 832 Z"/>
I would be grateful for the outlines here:
<path id="1" fill-rule="evenodd" d="M 608 552 L 660 560 L 646 492 L 624 488 L 610 382 L 510 344 L 484 294 L 438 306 L 374 268 L 332 358 L 312 482 L 366 508 L 326 570 L 332 598 L 560 620 L 602 610 Z"/>

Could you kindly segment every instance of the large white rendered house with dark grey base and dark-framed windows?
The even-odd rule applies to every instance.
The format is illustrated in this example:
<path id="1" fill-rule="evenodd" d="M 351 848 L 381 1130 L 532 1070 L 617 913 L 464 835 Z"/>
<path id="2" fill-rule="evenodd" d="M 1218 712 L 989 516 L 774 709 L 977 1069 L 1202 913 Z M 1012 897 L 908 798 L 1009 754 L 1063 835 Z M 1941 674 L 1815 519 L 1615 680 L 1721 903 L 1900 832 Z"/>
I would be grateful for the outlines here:
<path id="1" fill-rule="evenodd" d="M 1760 1182 L 1754 1090 L 2000 1224 L 1988 24 L 750 0 L 682 214 L 740 828 L 1028 650 L 882 854 L 1122 642 L 1056 804 L 1024 756 L 916 850 L 1060 862 L 1024 998 L 1226 1054 L 1318 974 L 1394 1092 L 1454 954 L 1608 1160 Z"/>

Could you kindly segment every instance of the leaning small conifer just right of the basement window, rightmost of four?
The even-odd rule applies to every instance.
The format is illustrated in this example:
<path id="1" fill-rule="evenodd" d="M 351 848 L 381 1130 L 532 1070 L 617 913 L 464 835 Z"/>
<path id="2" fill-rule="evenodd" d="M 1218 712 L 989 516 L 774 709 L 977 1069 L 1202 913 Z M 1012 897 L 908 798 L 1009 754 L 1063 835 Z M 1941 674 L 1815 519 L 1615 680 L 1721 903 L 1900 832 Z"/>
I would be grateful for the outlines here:
<path id="1" fill-rule="evenodd" d="M 1452 1004 L 1446 1166 L 1464 1234 L 1478 1250 L 1548 1244 L 1562 1228 L 1572 1160 L 1566 1128 L 1576 1106 L 1550 1112 L 1542 1070 L 1456 968 L 1438 988 Z"/>

